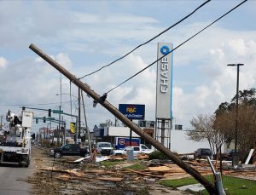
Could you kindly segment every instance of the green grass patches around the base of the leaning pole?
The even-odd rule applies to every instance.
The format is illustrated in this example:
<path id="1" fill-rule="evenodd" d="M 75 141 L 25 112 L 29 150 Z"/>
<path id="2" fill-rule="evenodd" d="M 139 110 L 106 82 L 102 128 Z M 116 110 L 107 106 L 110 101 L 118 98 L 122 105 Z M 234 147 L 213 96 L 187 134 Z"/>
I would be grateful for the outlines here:
<path id="1" fill-rule="evenodd" d="M 212 175 L 207 175 L 207 180 L 212 182 Z M 188 177 L 179 180 L 166 180 L 160 181 L 161 185 L 164 186 L 171 186 L 171 187 L 178 187 L 178 186 L 187 186 L 190 184 L 198 183 L 195 181 L 194 178 Z M 255 181 L 248 181 L 245 179 L 230 177 L 230 176 L 223 176 L 223 184 L 224 184 L 224 191 L 226 194 L 232 195 L 251 195 L 255 194 L 256 192 L 256 185 Z M 206 190 L 202 191 L 200 194 L 209 194 Z"/>

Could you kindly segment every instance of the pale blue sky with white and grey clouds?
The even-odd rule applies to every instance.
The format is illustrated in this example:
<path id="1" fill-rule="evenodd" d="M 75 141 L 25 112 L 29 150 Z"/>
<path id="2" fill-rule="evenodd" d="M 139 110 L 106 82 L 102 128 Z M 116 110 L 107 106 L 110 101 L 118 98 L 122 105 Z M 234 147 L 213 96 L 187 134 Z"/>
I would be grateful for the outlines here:
<path id="1" fill-rule="evenodd" d="M 154 37 L 204 1 L 0 1 L 0 114 L 20 106 L 70 112 L 69 81 L 29 49 L 34 43 L 77 77 L 107 65 L 137 45 Z M 240 0 L 212 0 L 189 19 L 151 43 L 137 49 L 102 72 L 85 77 L 102 95 L 115 85 L 156 60 L 157 43 L 174 47 L 200 31 Z M 236 67 L 240 89 L 256 84 L 256 1 L 247 1 L 202 32 L 173 55 L 174 123 L 189 129 L 191 118 L 212 114 L 218 105 L 236 94 Z M 128 83 L 113 90 L 108 101 L 146 105 L 147 120 L 154 120 L 156 68 L 151 66 Z M 61 81 L 61 82 L 60 82 Z M 60 84 L 62 83 L 62 84 Z M 61 87 L 60 87 L 61 86 Z M 63 95 L 60 98 L 61 89 Z M 74 96 L 78 89 L 71 85 Z M 78 103 L 73 98 L 73 114 Z M 86 96 L 85 109 L 90 129 L 114 117 L 102 106 L 92 107 Z M 35 112 L 36 117 L 47 112 Z M 57 118 L 57 115 L 54 116 Z M 67 123 L 72 118 L 66 118 Z M 84 120 L 83 120 L 84 121 Z M 34 129 L 46 126 L 34 124 Z"/>

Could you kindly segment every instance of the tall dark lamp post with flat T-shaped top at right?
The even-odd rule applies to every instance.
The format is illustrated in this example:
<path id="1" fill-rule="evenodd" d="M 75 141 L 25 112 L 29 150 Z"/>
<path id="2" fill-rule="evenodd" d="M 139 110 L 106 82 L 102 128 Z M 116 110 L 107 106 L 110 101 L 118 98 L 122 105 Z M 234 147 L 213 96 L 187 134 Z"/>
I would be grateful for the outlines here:
<path id="1" fill-rule="evenodd" d="M 243 64 L 228 64 L 227 66 L 236 66 L 237 67 L 237 79 L 236 79 L 236 122 L 235 122 L 235 153 L 232 158 L 232 165 L 235 166 L 238 164 L 238 154 L 237 154 L 237 122 L 238 122 L 238 91 L 239 91 L 239 66 Z"/>

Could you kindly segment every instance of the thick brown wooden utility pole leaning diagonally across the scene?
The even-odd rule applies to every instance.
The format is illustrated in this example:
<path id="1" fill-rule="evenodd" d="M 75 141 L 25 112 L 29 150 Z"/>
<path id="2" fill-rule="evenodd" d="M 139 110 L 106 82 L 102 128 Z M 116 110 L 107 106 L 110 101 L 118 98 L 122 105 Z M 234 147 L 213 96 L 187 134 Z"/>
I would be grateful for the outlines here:
<path id="1" fill-rule="evenodd" d="M 192 175 L 197 181 L 199 181 L 203 186 L 205 186 L 205 188 L 207 189 L 207 192 L 209 192 L 210 194 L 218 194 L 218 191 L 216 190 L 215 186 L 213 186 L 211 182 L 207 181 L 207 179 L 204 178 L 196 169 L 190 167 L 189 164 L 184 163 L 180 158 L 178 158 L 165 146 L 160 144 L 159 141 L 154 140 L 154 138 L 152 138 L 150 135 L 145 133 L 143 129 L 140 129 L 139 127 L 137 127 L 137 124 L 132 123 L 131 120 L 129 120 L 121 112 L 119 112 L 119 110 L 115 106 L 110 104 L 108 100 L 106 100 L 107 94 L 104 94 L 102 96 L 96 94 L 94 90 L 90 89 L 90 86 L 88 84 L 81 82 L 78 77 L 75 77 L 71 72 L 68 72 L 58 62 L 53 60 L 48 54 L 44 54 L 44 52 L 41 49 L 38 49 L 38 47 L 35 46 L 34 44 L 31 44 L 29 48 L 32 49 L 32 51 L 34 51 L 44 60 L 46 60 L 51 66 L 54 66 L 55 69 L 57 69 L 59 72 L 65 75 L 71 82 L 76 84 L 87 95 L 90 95 L 90 97 L 92 97 L 96 102 L 98 102 L 103 107 L 105 107 L 116 118 L 119 118 L 120 121 L 125 123 L 125 125 L 130 129 L 132 129 L 135 133 L 137 133 L 137 135 L 140 135 L 141 137 L 143 137 L 143 139 L 148 141 L 148 143 L 150 143 L 152 146 L 157 148 L 160 152 L 165 153 L 166 156 L 170 158 L 173 163 L 176 163 L 180 168 L 182 168 L 187 173 L 189 173 L 189 175 Z"/>

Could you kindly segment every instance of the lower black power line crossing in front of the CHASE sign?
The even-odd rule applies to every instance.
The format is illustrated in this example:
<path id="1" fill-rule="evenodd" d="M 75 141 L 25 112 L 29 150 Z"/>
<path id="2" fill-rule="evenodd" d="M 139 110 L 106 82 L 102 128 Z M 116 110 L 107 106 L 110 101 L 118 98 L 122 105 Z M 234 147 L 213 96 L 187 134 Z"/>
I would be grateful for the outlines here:
<path id="1" fill-rule="evenodd" d="M 211 24 L 209 24 L 208 26 L 204 27 L 200 32 L 195 33 L 195 35 L 193 35 L 192 37 L 189 37 L 186 41 L 184 41 L 183 43 L 180 43 L 176 48 L 172 49 L 171 51 L 169 51 L 167 54 L 171 54 L 173 51 L 175 51 L 176 49 L 178 49 L 179 47 L 181 47 L 184 43 L 189 42 L 189 40 L 191 40 L 192 38 L 194 38 L 195 36 L 197 36 L 198 34 L 200 34 L 201 32 L 205 31 L 209 26 L 212 26 L 215 22 L 217 22 L 218 20 L 222 19 L 225 15 L 230 14 L 230 12 L 232 12 L 234 9 L 237 9 L 239 6 L 241 6 L 241 4 L 247 2 L 247 0 L 239 3 L 238 5 L 236 5 L 235 8 L 230 9 L 230 11 L 226 12 L 225 14 L 223 14 L 222 16 L 220 16 L 217 20 L 212 21 Z M 154 62 L 152 62 L 151 64 L 149 64 L 148 66 L 146 66 L 145 68 L 143 68 L 141 71 L 137 72 L 136 74 L 134 74 L 133 76 L 127 78 L 124 82 L 119 83 L 119 85 L 117 85 L 116 87 L 114 87 L 113 89 L 117 89 L 120 85 L 126 83 L 127 81 L 131 80 L 131 78 L 136 77 L 138 74 L 140 74 L 141 72 L 145 71 L 146 69 L 148 69 L 148 67 L 153 66 L 154 63 L 156 63 L 157 61 L 161 60 L 162 58 L 166 57 L 167 54 L 164 54 L 162 57 L 160 57 L 157 60 L 154 60 Z M 113 91 L 113 89 L 110 89 L 107 93 Z"/>

